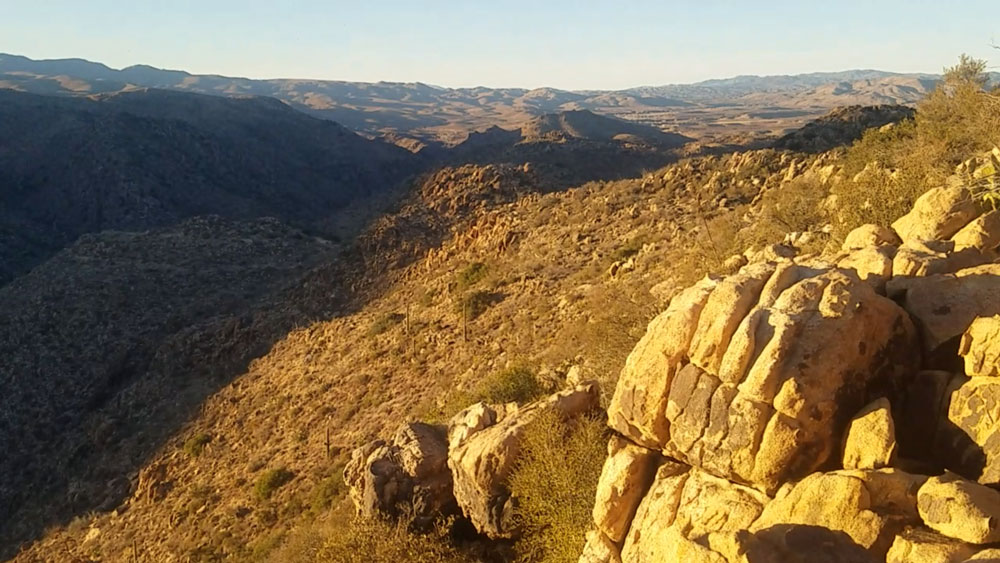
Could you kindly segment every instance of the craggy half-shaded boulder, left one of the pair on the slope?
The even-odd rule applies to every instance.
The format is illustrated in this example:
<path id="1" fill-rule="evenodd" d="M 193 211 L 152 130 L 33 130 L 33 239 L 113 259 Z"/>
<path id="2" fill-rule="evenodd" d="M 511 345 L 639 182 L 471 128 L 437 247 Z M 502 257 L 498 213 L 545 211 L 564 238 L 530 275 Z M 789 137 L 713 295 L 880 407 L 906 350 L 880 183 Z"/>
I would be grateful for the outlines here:
<path id="1" fill-rule="evenodd" d="M 396 517 L 418 526 L 456 510 L 443 427 L 402 426 L 392 440 L 376 440 L 351 452 L 344 482 L 358 514 Z"/>

